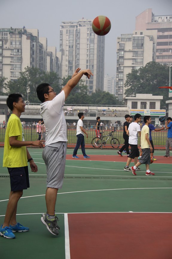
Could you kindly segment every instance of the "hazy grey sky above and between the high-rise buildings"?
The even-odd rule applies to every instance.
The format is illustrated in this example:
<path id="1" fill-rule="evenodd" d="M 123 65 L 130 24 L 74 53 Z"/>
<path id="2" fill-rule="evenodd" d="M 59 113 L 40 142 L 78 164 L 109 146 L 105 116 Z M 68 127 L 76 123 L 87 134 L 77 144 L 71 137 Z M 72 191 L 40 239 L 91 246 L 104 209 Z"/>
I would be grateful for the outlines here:
<path id="1" fill-rule="evenodd" d="M 121 34 L 135 30 L 136 16 L 147 8 L 155 15 L 172 15 L 172 0 L 0 0 L 0 28 L 39 29 L 39 36 L 48 39 L 48 46 L 59 51 L 62 21 L 94 19 L 105 15 L 111 30 L 105 38 L 105 74 L 116 74 L 116 42 Z"/>

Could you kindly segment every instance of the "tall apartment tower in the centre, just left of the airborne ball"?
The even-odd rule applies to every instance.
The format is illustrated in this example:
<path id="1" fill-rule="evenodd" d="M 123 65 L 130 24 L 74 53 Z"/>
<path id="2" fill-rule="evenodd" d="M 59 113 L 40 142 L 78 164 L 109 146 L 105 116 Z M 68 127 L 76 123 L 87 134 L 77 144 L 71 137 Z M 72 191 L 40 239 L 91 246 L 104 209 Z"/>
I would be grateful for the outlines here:
<path id="1" fill-rule="evenodd" d="M 92 20 L 62 22 L 60 25 L 61 77 L 71 76 L 75 69 L 90 69 L 94 76 L 88 80 L 88 93 L 103 91 L 105 37 L 92 30 Z"/>

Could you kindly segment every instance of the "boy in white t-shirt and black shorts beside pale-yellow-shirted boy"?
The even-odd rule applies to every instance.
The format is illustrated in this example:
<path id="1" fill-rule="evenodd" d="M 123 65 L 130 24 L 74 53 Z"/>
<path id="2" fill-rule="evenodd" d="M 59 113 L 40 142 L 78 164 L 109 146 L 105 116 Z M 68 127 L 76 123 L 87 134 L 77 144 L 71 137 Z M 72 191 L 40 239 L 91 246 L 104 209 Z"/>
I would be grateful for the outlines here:
<path id="1" fill-rule="evenodd" d="M 137 158 L 139 156 L 139 150 L 138 150 L 138 134 L 141 136 L 141 129 L 140 125 L 138 125 L 138 122 L 141 121 L 141 115 L 139 113 L 136 113 L 134 115 L 134 122 L 130 123 L 127 131 L 127 135 L 129 135 L 128 143 L 131 146 L 131 152 L 130 155 L 128 155 L 127 164 L 124 167 L 125 171 L 132 171 L 129 167 L 131 160 L 134 159 L 134 164 L 137 163 Z M 137 171 L 140 171 L 140 168 L 137 167 Z"/>

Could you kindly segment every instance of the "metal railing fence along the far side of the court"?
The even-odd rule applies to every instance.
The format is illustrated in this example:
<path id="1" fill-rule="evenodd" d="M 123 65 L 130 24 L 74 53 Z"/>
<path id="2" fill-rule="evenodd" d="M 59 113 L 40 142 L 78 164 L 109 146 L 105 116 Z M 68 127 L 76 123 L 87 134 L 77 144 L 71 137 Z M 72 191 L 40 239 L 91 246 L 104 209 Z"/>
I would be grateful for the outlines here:
<path id="1" fill-rule="evenodd" d="M 68 138 L 68 148 L 73 148 L 76 145 L 76 127 L 77 125 L 67 125 L 67 138 Z M 118 148 L 124 144 L 123 139 L 123 126 L 110 126 L 105 125 L 100 127 L 101 140 L 96 146 L 95 142 L 97 137 L 95 134 L 95 125 L 85 125 L 85 130 L 88 133 L 88 139 L 85 136 L 86 148 Z M 3 124 L 0 124 L 0 145 L 4 146 L 6 125 L 4 128 Z M 26 141 L 35 141 L 38 139 L 38 133 L 36 133 L 36 124 L 24 125 L 24 135 Z M 96 139 L 95 139 L 96 138 Z M 115 140 L 117 139 L 119 141 Z M 152 131 L 152 139 L 155 149 L 165 149 L 165 142 L 167 139 L 167 130 L 162 131 Z M 139 141 L 139 140 L 138 140 Z M 116 142 L 116 143 L 115 143 Z"/>

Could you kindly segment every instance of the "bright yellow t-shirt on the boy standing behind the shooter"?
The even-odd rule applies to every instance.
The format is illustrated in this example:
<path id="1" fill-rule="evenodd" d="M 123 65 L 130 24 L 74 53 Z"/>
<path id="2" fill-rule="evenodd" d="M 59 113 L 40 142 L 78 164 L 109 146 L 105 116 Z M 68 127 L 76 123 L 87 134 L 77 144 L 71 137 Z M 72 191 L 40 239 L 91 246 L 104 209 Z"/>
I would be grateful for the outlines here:
<path id="1" fill-rule="evenodd" d="M 11 114 L 5 132 L 3 167 L 23 167 L 28 165 L 26 147 L 11 147 L 9 137 L 25 141 L 22 123 L 15 114 Z"/>

